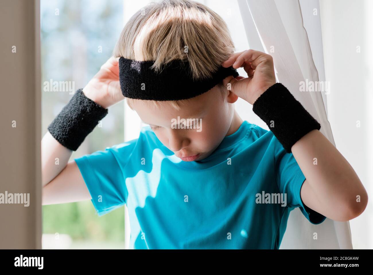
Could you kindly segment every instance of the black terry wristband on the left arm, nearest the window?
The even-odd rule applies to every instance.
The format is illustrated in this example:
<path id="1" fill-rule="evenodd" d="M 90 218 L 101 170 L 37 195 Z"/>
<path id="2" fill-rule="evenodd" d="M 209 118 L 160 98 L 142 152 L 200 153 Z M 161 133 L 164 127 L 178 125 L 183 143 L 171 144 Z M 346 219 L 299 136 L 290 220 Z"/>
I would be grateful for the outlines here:
<path id="1" fill-rule="evenodd" d="M 107 109 L 87 98 L 83 89 L 79 89 L 49 124 L 48 131 L 61 145 L 76 151 L 106 115 Z"/>

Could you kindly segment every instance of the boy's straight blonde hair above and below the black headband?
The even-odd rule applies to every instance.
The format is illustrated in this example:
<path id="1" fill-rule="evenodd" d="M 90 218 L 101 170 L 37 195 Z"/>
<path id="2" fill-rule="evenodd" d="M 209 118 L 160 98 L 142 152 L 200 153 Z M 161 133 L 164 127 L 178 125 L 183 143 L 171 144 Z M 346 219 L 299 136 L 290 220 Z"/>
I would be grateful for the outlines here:
<path id="1" fill-rule="evenodd" d="M 152 68 L 174 59 L 188 60 L 192 77 L 211 77 L 223 61 L 235 52 L 224 20 L 209 7 L 190 0 L 151 2 L 127 22 L 116 43 L 113 56 L 137 61 L 153 60 Z M 225 87 L 219 84 L 222 90 Z M 132 102 L 139 99 L 127 98 Z M 180 109 L 188 100 L 151 101 L 155 106 L 171 104 Z"/>

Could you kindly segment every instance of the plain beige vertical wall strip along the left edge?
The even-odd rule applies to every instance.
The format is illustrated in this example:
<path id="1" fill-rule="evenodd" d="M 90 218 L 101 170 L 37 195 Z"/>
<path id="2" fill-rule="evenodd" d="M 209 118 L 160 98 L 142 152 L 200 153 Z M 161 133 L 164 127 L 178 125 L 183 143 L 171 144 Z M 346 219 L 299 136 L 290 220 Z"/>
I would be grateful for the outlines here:
<path id="1" fill-rule="evenodd" d="M 28 207 L 0 204 L 0 248 L 40 249 L 39 0 L 2 0 L 0 26 L 0 193 L 29 193 Z"/>

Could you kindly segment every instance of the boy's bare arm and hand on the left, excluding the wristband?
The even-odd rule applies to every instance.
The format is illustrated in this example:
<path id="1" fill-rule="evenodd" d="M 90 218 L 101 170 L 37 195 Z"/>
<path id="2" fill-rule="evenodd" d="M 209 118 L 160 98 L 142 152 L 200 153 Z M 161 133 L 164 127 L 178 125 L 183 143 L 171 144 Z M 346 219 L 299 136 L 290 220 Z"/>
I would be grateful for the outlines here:
<path id="1" fill-rule="evenodd" d="M 88 99 L 105 109 L 124 99 L 119 85 L 118 59 L 109 58 L 82 90 Z M 60 144 L 50 132 L 41 140 L 43 205 L 91 198 L 75 161 L 68 163 L 71 154 L 72 150 Z"/>

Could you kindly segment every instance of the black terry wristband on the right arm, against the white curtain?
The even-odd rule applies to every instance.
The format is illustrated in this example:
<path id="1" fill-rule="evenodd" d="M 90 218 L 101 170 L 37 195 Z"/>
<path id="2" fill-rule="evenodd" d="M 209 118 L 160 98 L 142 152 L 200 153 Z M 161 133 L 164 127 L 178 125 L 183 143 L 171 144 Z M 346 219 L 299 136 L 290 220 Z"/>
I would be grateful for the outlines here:
<path id="1" fill-rule="evenodd" d="M 321 125 L 281 83 L 269 87 L 253 104 L 258 115 L 273 132 L 286 152 L 295 142 Z"/>

